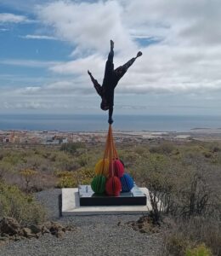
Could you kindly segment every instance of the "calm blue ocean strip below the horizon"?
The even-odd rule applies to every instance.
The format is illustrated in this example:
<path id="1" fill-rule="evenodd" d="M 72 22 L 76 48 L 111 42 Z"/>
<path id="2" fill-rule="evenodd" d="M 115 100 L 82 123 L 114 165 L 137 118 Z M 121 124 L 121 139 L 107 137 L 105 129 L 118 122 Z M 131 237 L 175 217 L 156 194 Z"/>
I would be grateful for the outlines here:
<path id="1" fill-rule="evenodd" d="M 121 131 L 190 131 L 221 128 L 221 116 L 114 115 L 113 128 Z M 107 115 L 0 114 L 0 130 L 106 131 Z"/>

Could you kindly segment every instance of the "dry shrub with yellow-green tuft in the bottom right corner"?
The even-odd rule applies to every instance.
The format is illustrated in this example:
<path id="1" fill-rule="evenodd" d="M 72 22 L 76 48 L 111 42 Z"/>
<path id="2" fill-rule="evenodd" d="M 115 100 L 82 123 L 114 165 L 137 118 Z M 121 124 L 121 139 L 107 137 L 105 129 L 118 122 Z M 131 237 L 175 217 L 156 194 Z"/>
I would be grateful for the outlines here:
<path id="1" fill-rule="evenodd" d="M 163 255 L 221 255 L 221 224 L 218 217 L 178 218 L 164 243 Z"/>

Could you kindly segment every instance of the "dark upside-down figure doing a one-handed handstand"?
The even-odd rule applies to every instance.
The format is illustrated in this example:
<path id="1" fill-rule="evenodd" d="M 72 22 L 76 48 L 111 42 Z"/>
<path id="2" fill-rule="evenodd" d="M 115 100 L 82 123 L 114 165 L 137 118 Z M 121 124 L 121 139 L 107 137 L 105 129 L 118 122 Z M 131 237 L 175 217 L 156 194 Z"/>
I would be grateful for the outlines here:
<path id="1" fill-rule="evenodd" d="M 127 61 L 123 66 L 117 67 L 114 69 L 114 42 L 111 40 L 111 50 L 108 55 L 108 59 L 105 65 L 105 77 L 103 80 L 102 86 L 98 83 L 96 79 L 94 79 L 92 73 L 88 70 L 88 75 L 90 76 L 95 90 L 102 98 L 102 102 L 100 104 L 100 108 L 102 110 L 109 110 L 109 119 L 108 123 L 112 124 L 112 114 L 113 114 L 113 106 L 114 106 L 114 90 L 116 88 L 116 84 L 122 78 L 122 76 L 127 72 L 128 67 L 130 67 L 133 62 L 142 55 L 142 52 L 139 51 L 137 56 Z"/>

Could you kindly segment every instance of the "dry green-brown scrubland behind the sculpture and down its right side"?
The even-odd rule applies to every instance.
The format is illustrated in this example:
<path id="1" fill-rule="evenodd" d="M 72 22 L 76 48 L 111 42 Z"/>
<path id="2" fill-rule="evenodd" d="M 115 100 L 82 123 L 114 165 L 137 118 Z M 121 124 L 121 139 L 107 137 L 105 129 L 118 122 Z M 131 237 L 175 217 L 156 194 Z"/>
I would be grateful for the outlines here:
<path id="1" fill-rule="evenodd" d="M 221 255 L 221 144 L 151 141 L 116 148 L 136 183 L 150 189 L 153 224 L 173 220 L 162 254 Z M 2 148 L 0 177 L 28 193 L 76 187 L 90 183 L 103 149 L 82 143 Z"/>

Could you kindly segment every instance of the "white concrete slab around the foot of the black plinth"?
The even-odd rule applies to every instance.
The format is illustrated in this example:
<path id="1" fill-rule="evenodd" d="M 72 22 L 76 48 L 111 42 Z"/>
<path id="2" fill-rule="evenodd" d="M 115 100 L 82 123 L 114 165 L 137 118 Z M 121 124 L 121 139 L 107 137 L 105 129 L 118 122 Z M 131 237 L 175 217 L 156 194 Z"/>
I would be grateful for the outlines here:
<path id="1" fill-rule="evenodd" d="M 150 212 L 150 196 L 146 188 L 139 188 L 146 195 L 146 206 L 122 207 L 80 207 L 78 189 L 62 189 L 62 216 L 96 215 L 96 214 L 142 214 Z"/>

